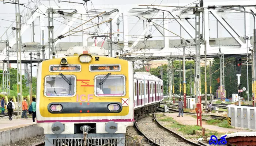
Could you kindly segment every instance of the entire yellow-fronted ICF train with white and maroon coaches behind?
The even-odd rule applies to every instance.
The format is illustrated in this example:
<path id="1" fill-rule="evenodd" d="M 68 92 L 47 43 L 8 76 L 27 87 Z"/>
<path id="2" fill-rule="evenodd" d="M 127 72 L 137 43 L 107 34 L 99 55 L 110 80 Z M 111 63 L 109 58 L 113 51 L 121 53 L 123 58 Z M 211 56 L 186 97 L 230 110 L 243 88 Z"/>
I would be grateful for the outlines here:
<path id="1" fill-rule="evenodd" d="M 124 146 L 134 113 L 153 111 L 162 99 L 162 80 L 134 74 L 123 59 L 85 51 L 38 66 L 37 125 L 45 146 Z"/>

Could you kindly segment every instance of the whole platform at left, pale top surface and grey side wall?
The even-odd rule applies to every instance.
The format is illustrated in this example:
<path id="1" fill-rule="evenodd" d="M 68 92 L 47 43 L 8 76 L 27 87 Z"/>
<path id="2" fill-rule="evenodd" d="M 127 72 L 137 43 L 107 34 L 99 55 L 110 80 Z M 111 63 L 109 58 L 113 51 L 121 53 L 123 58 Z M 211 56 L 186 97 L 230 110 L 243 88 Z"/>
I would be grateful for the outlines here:
<path id="1" fill-rule="evenodd" d="M 25 138 L 43 135 L 44 129 L 37 127 L 32 118 L 0 119 L 0 146 L 11 145 Z"/>

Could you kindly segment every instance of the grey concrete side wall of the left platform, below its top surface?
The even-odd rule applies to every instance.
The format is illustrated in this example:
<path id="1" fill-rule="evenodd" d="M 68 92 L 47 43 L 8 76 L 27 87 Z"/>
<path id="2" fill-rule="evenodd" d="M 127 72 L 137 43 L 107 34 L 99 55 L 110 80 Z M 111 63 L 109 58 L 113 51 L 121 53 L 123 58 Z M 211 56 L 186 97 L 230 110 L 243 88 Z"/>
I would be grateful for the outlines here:
<path id="1" fill-rule="evenodd" d="M 43 134 L 44 129 L 42 127 L 37 127 L 36 124 L 6 131 L 0 131 L 0 146 L 11 145 L 12 143 L 20 141 L 22 139 L 31 138 Z"/>

